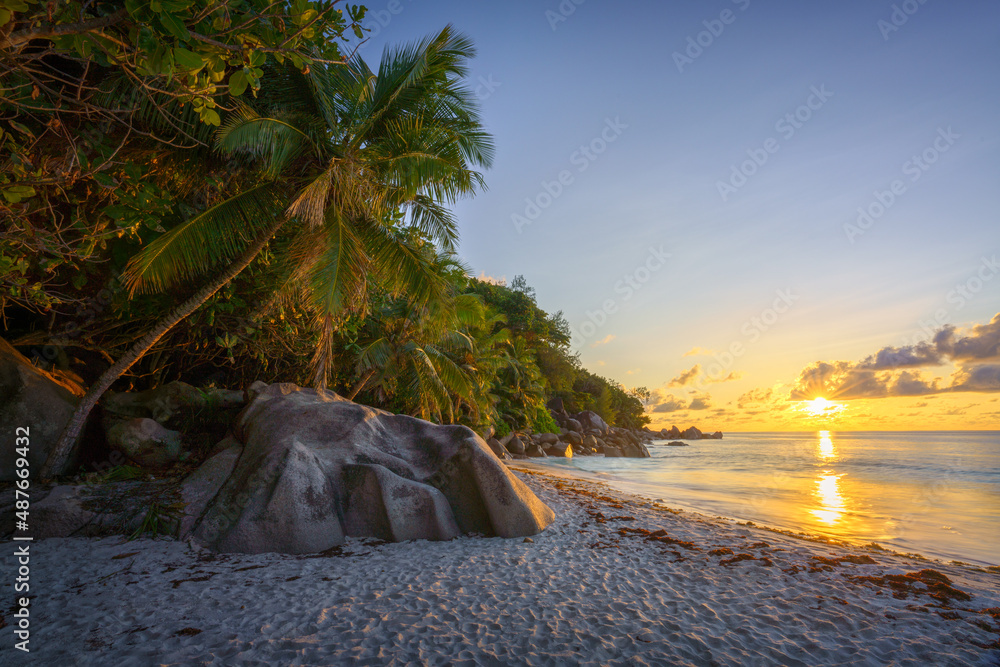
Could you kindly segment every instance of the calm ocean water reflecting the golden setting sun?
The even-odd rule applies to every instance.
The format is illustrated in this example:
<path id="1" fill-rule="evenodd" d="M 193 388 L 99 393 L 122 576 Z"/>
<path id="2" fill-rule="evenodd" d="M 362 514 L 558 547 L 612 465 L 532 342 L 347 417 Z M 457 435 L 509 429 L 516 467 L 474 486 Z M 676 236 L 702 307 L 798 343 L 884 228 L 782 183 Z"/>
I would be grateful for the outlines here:
<path id="1" fill-rule="evenodd" d="M 726 433 L 651 459 L 545 459 L 668 506 L 1000 564 L 1000 431 Z"/>

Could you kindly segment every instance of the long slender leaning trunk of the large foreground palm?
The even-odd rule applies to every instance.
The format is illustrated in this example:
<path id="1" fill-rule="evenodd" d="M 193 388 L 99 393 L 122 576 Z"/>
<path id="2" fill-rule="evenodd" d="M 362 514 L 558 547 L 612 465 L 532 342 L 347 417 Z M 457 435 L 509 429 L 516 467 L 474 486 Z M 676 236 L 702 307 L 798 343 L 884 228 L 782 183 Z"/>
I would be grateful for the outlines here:
<path id="1" fill-rule="evenodd" d="M 174 308 L 170 313 L 160 320 L 157 325 L 148 334 L 140 338 L 134 345 L 132 345 L 129 350 L 122 355 L 122 357 L 111 366 L 108 370 L 98 378 L 88 390 L 86 395 L 80 399 L 80 404 L 77 405 L 76 411 L 73 416 L 70 417 L 69 421 L 66 423 L 66 427 L 63 429 L 62 434 L 59 436 L 59 441 L 56 446 L 49 453 L 48 459 L 45 461 L 45 465 L 42 466 L 41 473 L 39 477 L 41 479 L 49 479 L 53 471 L 62 470 L 66 461 L 69 459 L 73 448 L 76 447 L 77 439 L 80 437 L 80 431 L 83 430 L 83 425 L 87 421 L 87 417 L 90 415 L 90 411 L 94 409 L 97 402 L 104 395 L 104 392 L 115 383 L 118 378 L 125 374 L 125 372 L 132 367 L 135 362 L 142 358 L 142 355 L 146 354 L 151 347 L 156 345 L 163 336 L 170 331 L 178 322 L 183 320 L 185 317 L 198 310 L 202 304 L 208 301 L 209 298 L 216 292 L 218 292 L 222 287 L 224 287 L 229 281 L 239 275 L 240 271 L 245 269 L 250 262 L 253 261 L 267 242 L 271 240 L 271 237 L 281 228 L 285 223 L 286 218 L 279 218 L 267 228 L 257 240 L 254 241 L 253 245 L 247 248 L 243 254 L 237 257 L 232 264 L 229 265 L 224 272 L 219 274 L 211 283 L 205 285 L 203 288 L 198 290 L 194 296 L 182 303 L 181 305 Z"/>

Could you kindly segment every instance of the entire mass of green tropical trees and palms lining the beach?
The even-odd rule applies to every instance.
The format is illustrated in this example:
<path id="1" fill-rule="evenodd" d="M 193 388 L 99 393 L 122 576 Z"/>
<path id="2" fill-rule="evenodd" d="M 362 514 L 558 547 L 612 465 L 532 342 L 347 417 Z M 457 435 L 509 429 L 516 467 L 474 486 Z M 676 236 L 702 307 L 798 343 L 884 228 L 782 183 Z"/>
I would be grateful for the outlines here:
<path id="1" fill-rule="evenodd" d="M 88 386 L 331 388 L 442 423 L 637 427 L 523 278 L 477 280 L 450 208 L 493 143 L 453 29 L 351 53 L 364 8 L 0 0 L 0 318 Z M 178 17 L 188 18 L 178 18 Z M 352 38 L 353 35 L 353 38 Z"/>

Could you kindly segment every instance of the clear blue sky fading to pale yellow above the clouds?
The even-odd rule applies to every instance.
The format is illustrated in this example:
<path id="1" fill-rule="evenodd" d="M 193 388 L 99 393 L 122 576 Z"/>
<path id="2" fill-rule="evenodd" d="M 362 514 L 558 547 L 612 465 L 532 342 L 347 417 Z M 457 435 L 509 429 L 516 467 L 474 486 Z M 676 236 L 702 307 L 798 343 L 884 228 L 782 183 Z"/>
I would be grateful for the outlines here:
<path id="1" fill-rule="evenodd" d="M 656 389 L 719 363 L 742 378 L 698 391 L 722 418 L 809 364 L 907 344 L 942 309 L 935 326 L 1000 310 L 1000 275 L 954 296 L 1000 251 L 1000 4 L 368 7 L 373 65 L 449 23 L 475 41 L 498 152 L 489 191 L 456 207 L 460 254 L 523 274 L 602 375 Z M 859 207 L 877 214 L 864 228 Z"/>

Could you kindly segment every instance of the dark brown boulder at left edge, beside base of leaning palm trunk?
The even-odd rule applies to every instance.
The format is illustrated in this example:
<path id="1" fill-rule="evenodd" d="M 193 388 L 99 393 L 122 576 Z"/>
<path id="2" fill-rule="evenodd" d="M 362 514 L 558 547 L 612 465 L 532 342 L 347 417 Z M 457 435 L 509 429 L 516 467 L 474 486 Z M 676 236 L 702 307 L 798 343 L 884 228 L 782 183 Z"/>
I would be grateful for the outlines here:
<path id="1" fill-rule="evenodd" d="M 17 449 L 19 437 L 27 437 L 28 473 L 36 478 L 49 452 L 59 440 L 79 402 L 75 387 L 60 384 L 58 378 L 33 366 L 28 359 L 0 338 L 0 481 L 16 479 L 15 463 L 22 458 Z M 19 431 L 18 429 L 25 429 Z M 21 441 L 23 446 L 25 441 Z M 74 449 L 75 451 L 75 449 Z M 73 470 L 75 460 L 67 461 L 56 475 Z"/>

